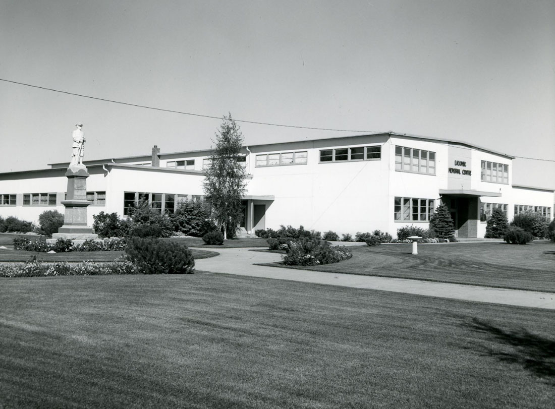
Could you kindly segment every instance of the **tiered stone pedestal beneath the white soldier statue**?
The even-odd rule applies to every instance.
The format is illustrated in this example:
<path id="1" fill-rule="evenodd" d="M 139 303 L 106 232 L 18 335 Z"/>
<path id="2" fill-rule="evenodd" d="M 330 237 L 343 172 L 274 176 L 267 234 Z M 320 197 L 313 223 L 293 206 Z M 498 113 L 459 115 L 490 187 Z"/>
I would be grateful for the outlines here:
<path id="1" fill-rule="evenodd" d="M 84 165 L 70 166 L 65 173 L 68 178 L 67 197 L 62 201 L 65 206 L 64 225 L 58 233 L 52 235 L 53 239 L 96 239 L 87 225 L 87 178 L 89 174 Z"/>

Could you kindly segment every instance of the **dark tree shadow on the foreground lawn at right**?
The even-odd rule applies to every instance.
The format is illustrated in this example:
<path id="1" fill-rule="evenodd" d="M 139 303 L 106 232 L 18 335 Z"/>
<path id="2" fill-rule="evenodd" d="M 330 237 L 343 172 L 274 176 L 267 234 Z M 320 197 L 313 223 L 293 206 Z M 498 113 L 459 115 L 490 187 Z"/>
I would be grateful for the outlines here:
<path id="1" fill-rule="evenodd" d="M 477 318 L 464 324 L 473 331 L 481 332 L 492 347 L 477 345 L 478 351 L 497 358 L 501 362 L 521 365 L 532 375 L 544 378 L 555 386 L 555 341 L 532 334 L 524 328 L 504 330 Z"/>

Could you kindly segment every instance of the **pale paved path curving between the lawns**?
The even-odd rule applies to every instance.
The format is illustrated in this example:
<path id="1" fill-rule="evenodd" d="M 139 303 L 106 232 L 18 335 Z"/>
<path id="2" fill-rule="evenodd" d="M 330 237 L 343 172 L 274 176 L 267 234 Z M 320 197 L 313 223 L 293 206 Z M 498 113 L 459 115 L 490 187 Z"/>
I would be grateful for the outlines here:
<path id="1" fill-rule="evenodd" d="M 280 261 L 281 254 L 249 251 L 245 248 L 217 249 L 216 251 L 220 253 L 219 256 L 196 260 L 195 268 L 201 271 L 223 272 L 225 274 L 314 282 L 316 284 L 405 292 L 407 294 L 555 310 L 555 294 L 550 292 L 506 290 L 445 282 L 257 266 L 253 264 Z"/>

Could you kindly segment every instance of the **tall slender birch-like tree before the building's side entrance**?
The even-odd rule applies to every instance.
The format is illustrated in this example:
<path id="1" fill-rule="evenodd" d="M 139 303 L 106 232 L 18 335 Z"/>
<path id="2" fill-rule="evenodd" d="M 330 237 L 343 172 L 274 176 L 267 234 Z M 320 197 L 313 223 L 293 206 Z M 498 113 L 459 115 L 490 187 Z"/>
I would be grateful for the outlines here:
<path id="1" fill-rule="evenodd" d="M 204 171 L 204 194 L 210 201 L 212 218 L 227 239 L 228 229 L 234 232 L 239 224 L 241 198 L 246 191 L 245 170 L 239 163 L 243 135 L 231 114 L 224 117 L 216 132 L 215 145 L 210 168 Z"/>

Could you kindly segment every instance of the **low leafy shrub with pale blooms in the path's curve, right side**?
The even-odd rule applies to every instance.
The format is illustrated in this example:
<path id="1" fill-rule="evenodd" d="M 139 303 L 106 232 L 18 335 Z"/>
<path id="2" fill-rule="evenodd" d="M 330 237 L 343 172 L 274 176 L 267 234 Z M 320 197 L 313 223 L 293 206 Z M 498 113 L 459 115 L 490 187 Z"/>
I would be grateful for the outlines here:
<path id="1" fill-rule="evenodd" d="M 286 265 L 330 264 L 352 257 L 352 253 L 345 246 L 331 246 L 316 238 L 291 240 L 287 247 L 287 254 L 283 257 Z"/>

